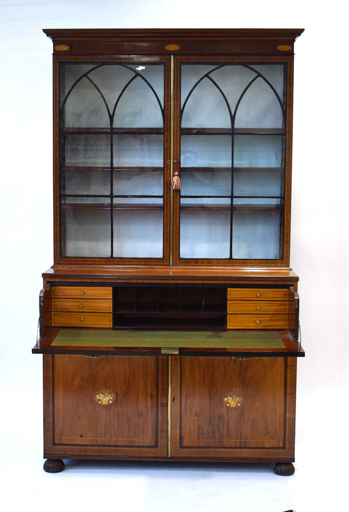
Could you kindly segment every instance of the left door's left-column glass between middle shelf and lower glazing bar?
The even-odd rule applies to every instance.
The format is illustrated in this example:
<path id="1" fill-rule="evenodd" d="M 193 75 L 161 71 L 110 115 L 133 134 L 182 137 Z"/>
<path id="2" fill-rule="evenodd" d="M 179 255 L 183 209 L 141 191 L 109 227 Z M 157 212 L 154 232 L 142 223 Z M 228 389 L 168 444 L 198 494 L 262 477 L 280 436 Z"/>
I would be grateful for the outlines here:
<path id="1" fill-rule="evenodd" d="M 61 173 L 61 194 L 109 195 L 110 172 L 106 170 L 63 169 Z"/>

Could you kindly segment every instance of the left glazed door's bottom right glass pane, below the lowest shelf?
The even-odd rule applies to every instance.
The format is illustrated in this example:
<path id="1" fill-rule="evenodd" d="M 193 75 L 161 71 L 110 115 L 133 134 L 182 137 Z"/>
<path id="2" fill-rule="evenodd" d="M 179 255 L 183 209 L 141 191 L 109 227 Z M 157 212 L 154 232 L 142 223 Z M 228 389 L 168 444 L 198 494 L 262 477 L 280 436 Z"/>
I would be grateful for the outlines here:
<path id="1" fill-rule="evenodd" d="M 163 210 L 114 209 L 114 257 L 162 258 Z"/>

